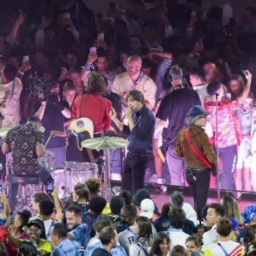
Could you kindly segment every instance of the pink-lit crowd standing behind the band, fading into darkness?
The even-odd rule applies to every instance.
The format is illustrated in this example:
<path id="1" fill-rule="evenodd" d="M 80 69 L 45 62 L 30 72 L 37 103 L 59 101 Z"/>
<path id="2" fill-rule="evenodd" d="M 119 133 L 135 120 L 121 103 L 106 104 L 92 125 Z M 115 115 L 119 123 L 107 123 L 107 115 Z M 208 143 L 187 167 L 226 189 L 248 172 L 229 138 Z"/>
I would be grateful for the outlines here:
<path id="1" fill-rule="evenodd" d="M 54 167 L 66 160 L 88 162 L 74 135 L 67 146 L 60 132 L 86 116 L 94 121 L 96 137 L 103 130 L 121 134 L 110 124 L 110 102 L 99 96 L 110 99 L 126 123 L 125 99 L 136 89 L 156 116 L 151 181 L 181 186 L 186 171 L 176 138 L 187 126 L 189 108 L 202 105 L 210 112 L 206 133 L 219 151 L 220 187 L 255 191 L 249 182 L 255 178 L 255 9 L 246 7 L 236 19 L 230 5 L 203 10 L 200 0 L 110 5 L 105 17 L 83 1 L 40 1 L 36 13 L 32 3 L 10 8 L 0 42 L 1 98 L 10 91 L 2 127 L 23 124 L 34 113 L 45 127 L 45 141 L 53 134 L 46 148 L 55 155 Z M 94 81 L 83 99 L 92 73 L 105 86 Z M 111 177 L 120 180 L 124 154 L 116 149 L 110 158 Z"/>

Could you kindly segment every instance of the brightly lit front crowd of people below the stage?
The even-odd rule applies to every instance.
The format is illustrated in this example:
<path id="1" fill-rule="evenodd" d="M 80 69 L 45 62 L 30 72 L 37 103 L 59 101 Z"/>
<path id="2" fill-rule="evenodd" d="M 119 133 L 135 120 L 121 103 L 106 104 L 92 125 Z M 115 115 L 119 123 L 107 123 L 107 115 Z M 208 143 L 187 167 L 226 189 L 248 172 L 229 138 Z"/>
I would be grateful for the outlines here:
<path id="1" fill-rule="evenodd" d="M 62 204 L 56 188 L 36 192 L 31 208 L 10 211 L 5 192 L 0 255 L 195 256 L 255 255 L 256 207 L 243 214 L 234 197 L 195 209 L 174 191 L 161 214 L 147 189 L 124 190 L 110 203 L 100 195 L 99 178 L 77 184 Z"/>

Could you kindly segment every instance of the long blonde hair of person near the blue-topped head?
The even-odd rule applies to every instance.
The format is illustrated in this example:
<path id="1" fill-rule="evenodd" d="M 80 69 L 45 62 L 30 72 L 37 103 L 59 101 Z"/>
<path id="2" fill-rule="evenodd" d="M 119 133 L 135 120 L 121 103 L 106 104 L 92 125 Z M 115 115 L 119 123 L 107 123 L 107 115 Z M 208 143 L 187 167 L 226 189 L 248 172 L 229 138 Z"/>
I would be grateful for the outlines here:
<path id="1" fill-rule="evenodd" d="M 222 206 L 225 207 L 225 216 L 230 219 L 236 219 L 239 225 L 243 223 L 241 212 L 239 210 L 236 198 L 225 195 L 220 201 Z"/>

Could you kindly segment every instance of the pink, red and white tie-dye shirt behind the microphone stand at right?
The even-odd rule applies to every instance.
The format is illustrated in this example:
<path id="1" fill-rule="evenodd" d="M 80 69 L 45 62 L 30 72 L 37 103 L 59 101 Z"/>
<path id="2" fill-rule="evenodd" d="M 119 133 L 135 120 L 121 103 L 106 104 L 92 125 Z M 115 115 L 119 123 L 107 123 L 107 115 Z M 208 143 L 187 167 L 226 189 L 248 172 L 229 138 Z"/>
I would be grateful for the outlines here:
<path id="1" fill-rule="evenodd" d="M 210 114 L 207 121 L 211 124 L 214 130 L 214 144 L 217 143 L 216 138 L 216 103 L 212 101 L 211 97 L 206 97 L 204 109 Z M 219 105 L 218 108 L 218 146 L 219 148 L 226 148 L 238 144 L 238 121 L 234 111 L 239 108 L 238 100 L 225 101 Z"/>

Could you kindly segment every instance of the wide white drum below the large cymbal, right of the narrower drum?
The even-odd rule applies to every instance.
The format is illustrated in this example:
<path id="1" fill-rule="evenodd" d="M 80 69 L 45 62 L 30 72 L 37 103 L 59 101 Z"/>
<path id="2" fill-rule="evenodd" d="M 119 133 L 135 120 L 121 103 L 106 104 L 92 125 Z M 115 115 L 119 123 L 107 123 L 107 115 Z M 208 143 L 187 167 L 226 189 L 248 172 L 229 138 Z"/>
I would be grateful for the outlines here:
<path id="1" fill-rule="evenodd" d="M 72 176 L 72 189 L 79 182 L 84 183 L 86 179 L 98 177 L 98 166 L 91 162 L 66 162 L 64 169 L 71 173 Z"/>

